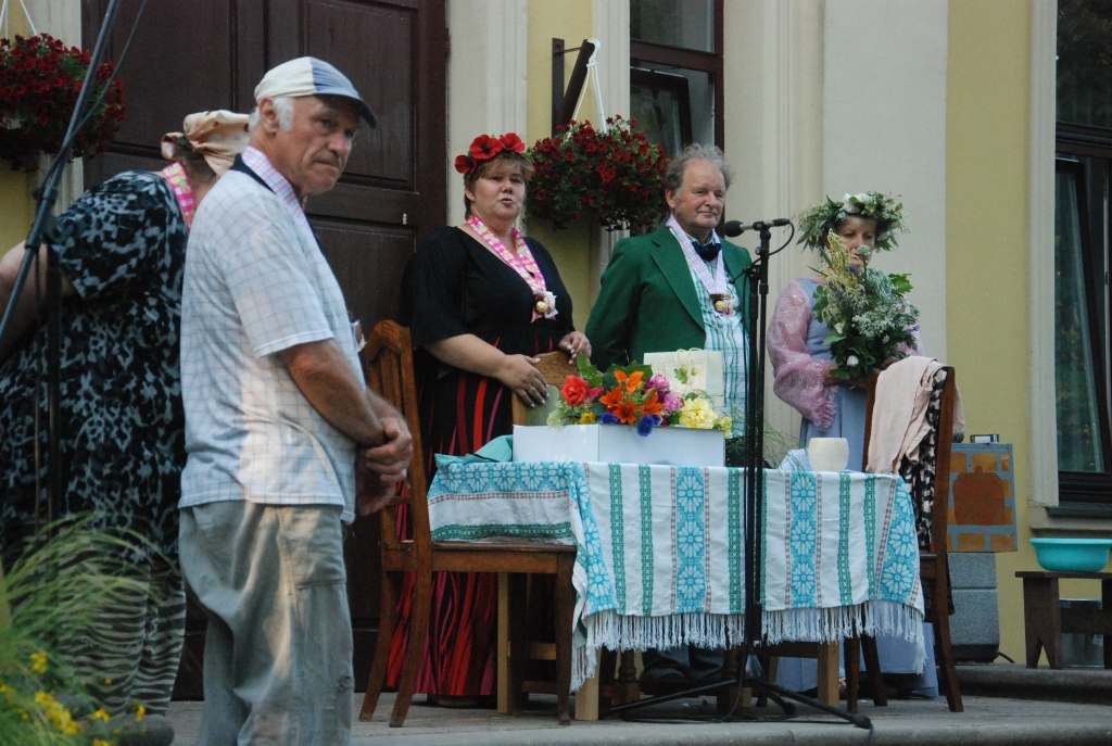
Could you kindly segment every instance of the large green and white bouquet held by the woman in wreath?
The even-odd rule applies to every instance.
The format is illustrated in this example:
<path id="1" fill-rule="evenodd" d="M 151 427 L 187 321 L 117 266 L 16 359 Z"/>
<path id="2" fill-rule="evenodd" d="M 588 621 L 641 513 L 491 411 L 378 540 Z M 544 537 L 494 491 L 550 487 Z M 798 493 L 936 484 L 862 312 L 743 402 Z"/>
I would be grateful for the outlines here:
<path id="1" fill-rule="evenodd" d="M 831 375 L 866 378 L 885 360 L 907 357 L 901 347 L 915 346 L 919 310 L 905 298 L 911 282 L 907 275 L 854 267 L 850 250 L 833 230 L 828 243 L 818 249 L 826 267 L 816 270 L 824 282 L 815 289 L 814 312 L 830 327 L 823 344 L 837 364 Z"/>

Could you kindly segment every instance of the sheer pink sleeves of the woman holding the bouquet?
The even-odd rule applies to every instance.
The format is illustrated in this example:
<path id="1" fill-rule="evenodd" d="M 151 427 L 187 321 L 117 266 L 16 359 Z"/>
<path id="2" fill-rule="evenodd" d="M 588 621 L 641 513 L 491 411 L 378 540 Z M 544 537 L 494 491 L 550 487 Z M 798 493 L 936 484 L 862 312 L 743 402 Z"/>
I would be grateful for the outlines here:
<path id="1" fill-rule="evenodd" d="M 812 279 L 818 281 L 817 278 Z M 813 358 L 807 351 L 807 327 L 812 316 L 811 294 L 798 280 L 792 280 L 776 300 L 766 339 L 768 358 L 776 376 L 773 391 L 820 430 L 825 430 L 837 415 L 837 386 L 823 385 L 826 368 L 833 364 Z M 922 355 L 923 342 L 919 336 L 919 327 L 913 334 L 915 348 L 904 351 L 909 355 Z"/>

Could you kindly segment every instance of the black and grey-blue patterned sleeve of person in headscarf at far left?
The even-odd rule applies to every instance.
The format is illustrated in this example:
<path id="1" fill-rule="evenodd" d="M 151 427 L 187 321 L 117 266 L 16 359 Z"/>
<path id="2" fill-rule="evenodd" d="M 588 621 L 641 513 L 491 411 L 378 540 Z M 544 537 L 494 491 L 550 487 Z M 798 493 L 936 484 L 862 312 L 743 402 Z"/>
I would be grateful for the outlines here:
<path id="1" fill-rule="evenodd" d="M 86 300 L 126 294 L 169 269 L 168 239 L 185 218 L 165 178 L 120 173 L 81 196 L 58 219 L 62 275 Z"/>

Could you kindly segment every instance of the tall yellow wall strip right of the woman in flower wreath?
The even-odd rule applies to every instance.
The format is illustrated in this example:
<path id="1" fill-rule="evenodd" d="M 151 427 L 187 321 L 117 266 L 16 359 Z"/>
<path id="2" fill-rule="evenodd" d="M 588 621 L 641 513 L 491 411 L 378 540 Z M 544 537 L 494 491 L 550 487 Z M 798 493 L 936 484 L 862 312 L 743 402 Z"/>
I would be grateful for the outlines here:
<path id="1" fill-rule="evenodd" d="M 946 101 L 946 325 L 966 432 L 1015 450 L 1019 551 L 996 555 L 1001 650 L 1024 658 L 1016 570 L 1039 569 L 1027 525 L 1027 121 L 1030 10 L 951 0 Z M 1046 350 L 1053 355 L 1053 350 Z M 1099 598 L 1095 581 L 1064 597 Z"/>

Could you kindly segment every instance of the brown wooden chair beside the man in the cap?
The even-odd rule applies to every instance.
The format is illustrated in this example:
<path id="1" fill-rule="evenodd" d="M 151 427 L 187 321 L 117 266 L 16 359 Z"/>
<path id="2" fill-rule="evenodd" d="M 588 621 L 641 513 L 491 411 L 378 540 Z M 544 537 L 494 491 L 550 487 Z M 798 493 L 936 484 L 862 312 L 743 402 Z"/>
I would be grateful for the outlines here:
<path id="1" fill-rule="evenodd" d="M 572 688 L 572 617 L 575 611 L 575 590 L 572 570 L 575 566 L 575 547 L 540 541 L 433 541 L 429 534 L 428 485 L 425 477 L 420 444 L 420 421 L 417 407 L 417 387 L 413 375 L 413 348 L 409 330 L 394 321 L 380 321 L 367 340 L 367 384 L 405 415 L 414 438 L 414 457 L 409 465 L 406 495 L 399 500 L 409 506 L 413 538 L 404 539 L 397 533 L 395 507 L 385 508 L 381 524 L 381 600 L 379 609 L 378 643 L 375 663 L 367 682 L 359 719 L 367 720 L 375 714 L 378 696 L 386 683 L 390 646 L 398 623 L 398 597 L 406 573 L 415 575 L 413 613 L 405 663 L 398 682 L 398 696 L 390 716 L 390 727 L 400 727 L 409 712 L 417 670 L 428 636 L 433 604 L 433 573 L 506 573 L 509 581 L 508 627 L 510 650 L 527 647 L 525 630 L 525 579 L 527 575 L 555 575 L 556 580 L 556 685 L 557 710 L 562 725 L 570 722 L 568 700 Z M 510 666 L 510 690 L 520 690 L 524 656 L 516 656 Z M 514 714 L 519 713 L 519 698 L 514 698 Z"/>

